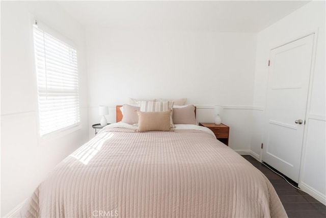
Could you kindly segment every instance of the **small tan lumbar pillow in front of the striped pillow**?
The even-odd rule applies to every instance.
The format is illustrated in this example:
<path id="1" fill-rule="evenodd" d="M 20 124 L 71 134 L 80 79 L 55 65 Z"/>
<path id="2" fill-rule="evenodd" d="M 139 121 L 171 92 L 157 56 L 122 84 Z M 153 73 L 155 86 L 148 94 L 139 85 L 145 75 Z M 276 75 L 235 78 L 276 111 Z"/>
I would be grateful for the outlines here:
<path id="1" fill-rule="evenodd" d="M 171 110 L 162 112 L 142 112 L 138 114 L 138 132 L 170 131 Z"/>

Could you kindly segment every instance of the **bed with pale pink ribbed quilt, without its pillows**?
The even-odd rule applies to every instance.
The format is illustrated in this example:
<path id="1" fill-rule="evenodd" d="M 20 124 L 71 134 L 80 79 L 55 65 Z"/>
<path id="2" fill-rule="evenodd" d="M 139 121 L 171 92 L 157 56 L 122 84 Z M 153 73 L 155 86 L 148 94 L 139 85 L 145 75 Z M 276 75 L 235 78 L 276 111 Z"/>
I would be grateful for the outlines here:
<path id="1" fill-rule="evenodd" d="M 20 216 L 287 217 L 268 179 L 208 128 L 137 132 L 122 122 L 64 159 Z"/>

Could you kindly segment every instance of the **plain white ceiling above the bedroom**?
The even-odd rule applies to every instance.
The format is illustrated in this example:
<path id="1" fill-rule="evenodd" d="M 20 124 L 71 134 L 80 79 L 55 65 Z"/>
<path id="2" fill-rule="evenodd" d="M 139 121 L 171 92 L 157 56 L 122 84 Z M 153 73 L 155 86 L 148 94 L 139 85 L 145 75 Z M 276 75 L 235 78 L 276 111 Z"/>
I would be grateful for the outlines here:
<path id="1" fill-rule="evenodd" d="M 309 1 L 58 1 L 87 27 L 259 32 Z"/>

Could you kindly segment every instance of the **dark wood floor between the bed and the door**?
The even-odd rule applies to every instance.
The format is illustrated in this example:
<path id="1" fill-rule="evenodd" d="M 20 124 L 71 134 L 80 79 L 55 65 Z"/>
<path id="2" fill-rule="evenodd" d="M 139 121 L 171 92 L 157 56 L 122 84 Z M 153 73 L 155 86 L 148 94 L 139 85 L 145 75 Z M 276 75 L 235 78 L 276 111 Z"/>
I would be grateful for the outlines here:
<path id="1" fill-rule="evenodd" d="M 325 205 L 309 196 L 306 192 L 297 190 L 289 185 L 282 177 L 275 174 L 255 158 L 249 155 L 243 155 L 242 157 L 258 168 L 273 184 L 289 217 L 326 217 Z"/>

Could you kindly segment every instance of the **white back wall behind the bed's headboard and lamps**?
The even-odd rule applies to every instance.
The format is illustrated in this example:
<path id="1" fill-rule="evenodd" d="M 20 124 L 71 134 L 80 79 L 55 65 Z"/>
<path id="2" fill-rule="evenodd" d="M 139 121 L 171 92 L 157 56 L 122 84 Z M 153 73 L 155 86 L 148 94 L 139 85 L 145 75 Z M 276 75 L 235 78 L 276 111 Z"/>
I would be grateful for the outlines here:
<path id="1" fill-rule="evenodd" d="M 256 34 L 87 28 L 89 123 L 99 123 L 97 106 L 128 98 L 187 98 L 199 122 L 213 122 L 210 106 L 231 107 L 222 115 L 230 126 L 230 147 L 251 144 Z M 208 107 L 208 109 L 207 109 Z M 90 137 L 94 130 L 90 129 Z"/>

